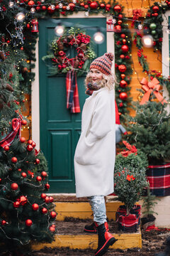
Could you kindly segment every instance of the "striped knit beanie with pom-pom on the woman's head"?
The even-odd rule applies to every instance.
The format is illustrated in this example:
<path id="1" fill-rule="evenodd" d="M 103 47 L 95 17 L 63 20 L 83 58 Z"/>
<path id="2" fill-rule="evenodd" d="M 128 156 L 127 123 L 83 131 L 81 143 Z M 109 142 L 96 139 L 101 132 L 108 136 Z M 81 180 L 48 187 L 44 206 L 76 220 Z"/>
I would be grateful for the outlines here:
<path id="1" fill-rule="evenodd" d="M 100 70 L 105 75 L 111 75 L 111 66 L 113 60 L 113 53 L 105 53 L 103 56 L 96 58 L 91 65 L 91 68 Z"/>

